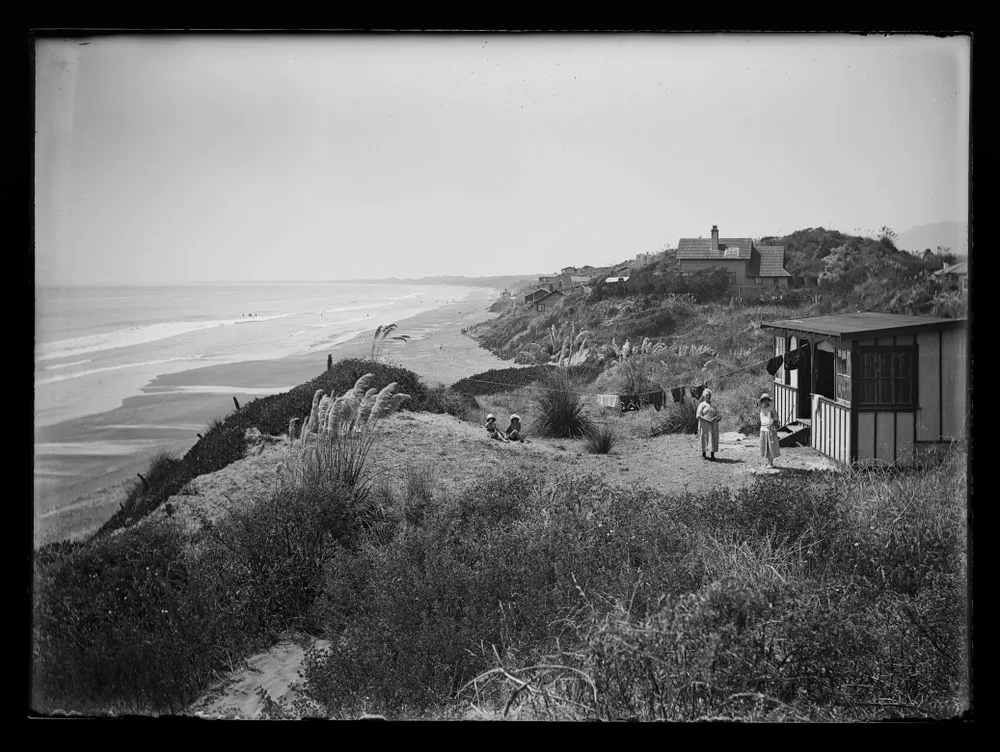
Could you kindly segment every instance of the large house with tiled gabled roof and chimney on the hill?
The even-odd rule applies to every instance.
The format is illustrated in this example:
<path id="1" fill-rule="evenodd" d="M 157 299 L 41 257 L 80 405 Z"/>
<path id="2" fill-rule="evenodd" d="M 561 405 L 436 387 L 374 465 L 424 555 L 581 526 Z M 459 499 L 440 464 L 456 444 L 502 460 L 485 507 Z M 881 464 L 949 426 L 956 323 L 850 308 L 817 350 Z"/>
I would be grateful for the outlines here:
<path id="1" fill-rule="evenodd" d="M 677 261 L 682 276 L 702 269 L 725 269 L 731 285 L 788 287 L 792 276 L 785 270 L 784 246 L 755 246 L 753 238 L 720 238 L 717 225 L 712 225 L 711 237 L 681 238 Z"/>

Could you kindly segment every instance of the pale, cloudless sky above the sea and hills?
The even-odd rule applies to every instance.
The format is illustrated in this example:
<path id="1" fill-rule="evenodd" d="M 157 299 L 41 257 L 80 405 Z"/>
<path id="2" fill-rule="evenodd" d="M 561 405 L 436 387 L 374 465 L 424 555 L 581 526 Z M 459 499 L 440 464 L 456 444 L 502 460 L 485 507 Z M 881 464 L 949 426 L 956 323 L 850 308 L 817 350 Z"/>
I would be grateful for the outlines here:
<path id="1" fill-rule="evenodd" d="M 535 274 L 713 224 L 966 221 L 969 58 L 920 35 L 39 39 L 35 278 Z"/>

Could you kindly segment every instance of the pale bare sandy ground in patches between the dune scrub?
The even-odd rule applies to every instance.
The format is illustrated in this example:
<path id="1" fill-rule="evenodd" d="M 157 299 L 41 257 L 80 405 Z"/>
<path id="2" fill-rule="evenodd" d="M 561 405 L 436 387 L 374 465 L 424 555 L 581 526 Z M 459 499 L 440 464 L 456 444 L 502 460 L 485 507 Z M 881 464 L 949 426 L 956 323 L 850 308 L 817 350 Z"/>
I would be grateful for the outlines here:
<path id="1" fill-rule="evenodd" d="M 722 434 L 717 460 L 710 462 L 702 459 L 698 437 L 693 435 L 623 437 L 610 454 L 594 455 L 587 453 L 581 439 L 529 438 L 528 443 L 504 444 L 489 439 L 482 426 L 448 414 L 396 413 L 380 430 L 368 467 L 393 488 L 405 482 L 409 468 L 429 468 L 432 493 L 474 491 L 491 471 L 502 472 L 512 463 L 540 477 L 596 472 L 615 484 L 648 485 L 667 494 L 737 488 L 766 472 L 756 437 L 739 433 Z M 196 478 L 190 493 L 170 497 L 169 507 L 164 505 L 154 516 L 170 509 L 175 518 L 191 525 L 198 524 L 195 512 L 218 519 L 234 504 L 246 503 L 255 491 L 273 489 L 276 468 L 287 452 L 287 439 L 251 447 L 245 459 Z M 783 449 L 778 464 L 780 469 L 772 471 L 778 476 L 836 468 L 808 447 Z M 290 706 L 297 697 L 295 685 L 302 680 L 305 650 L 326 644 L 304 635 L 286 635 L 223 678 L 188 712 L 204 718 L 261 718 L 265 696 Z"/>

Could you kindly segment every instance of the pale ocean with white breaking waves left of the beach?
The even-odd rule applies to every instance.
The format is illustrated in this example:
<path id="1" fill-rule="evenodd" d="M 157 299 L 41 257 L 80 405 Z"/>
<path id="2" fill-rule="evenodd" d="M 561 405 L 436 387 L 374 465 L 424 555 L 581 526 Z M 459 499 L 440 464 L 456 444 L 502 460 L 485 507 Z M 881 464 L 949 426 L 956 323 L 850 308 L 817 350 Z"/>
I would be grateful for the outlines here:
<path id="1" fill-rule="evenodd" d="M 360 282 L 36 288 L 36 519 L 102 477 L 132 477 L 137 456 L 189 446 L 204 425 L 171 419 L 170 401 L 216 404 L 220 395 L 263 396 L 300 383 L 282 368 L 220 369 L 229 383 L 195 378 L 169 388 L 151 386 L 158 376 L 309 354 L 318 373 L 337 344 L 471 292 Z M 153 423 L 150 411 L 123 408 L 144 395 L 163 403 Z"/>

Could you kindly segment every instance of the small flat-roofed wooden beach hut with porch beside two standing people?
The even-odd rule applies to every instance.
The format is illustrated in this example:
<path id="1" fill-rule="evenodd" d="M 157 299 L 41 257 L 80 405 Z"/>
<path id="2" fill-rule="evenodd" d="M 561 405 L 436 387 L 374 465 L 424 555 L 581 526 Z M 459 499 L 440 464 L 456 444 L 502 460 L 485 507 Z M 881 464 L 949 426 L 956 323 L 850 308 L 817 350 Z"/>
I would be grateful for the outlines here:
<path id="1" fill-rule="evenodd" d="M 782 435 L 843 464 L 912 463 L 964 438 L 965 319 L 842 313 L 762 323 L 774 332 L 774 407 Z"/>

